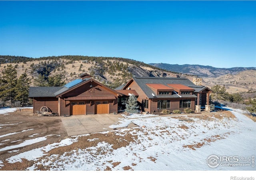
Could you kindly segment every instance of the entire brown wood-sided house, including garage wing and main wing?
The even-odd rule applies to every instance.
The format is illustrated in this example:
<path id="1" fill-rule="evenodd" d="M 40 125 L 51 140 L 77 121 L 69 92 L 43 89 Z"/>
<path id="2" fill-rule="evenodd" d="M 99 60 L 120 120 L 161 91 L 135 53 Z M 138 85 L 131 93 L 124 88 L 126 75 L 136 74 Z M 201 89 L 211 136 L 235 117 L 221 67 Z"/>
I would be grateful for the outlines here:
<path id="1" fill-rule="evenodd" d="M 133 77 L 112 90 L 84 73 L 63 87 L 30 87 L 29 98 L 33 98 L 34 113 L 46 106 L 60 116 L 118 112 L 125 109 L 131 94 L 138 98 L 141 110 L 149 113 L 185 108 L 200 112 L 201 106 L 209 110 L 210 92 L 186 78 L 159 77 Z"/>

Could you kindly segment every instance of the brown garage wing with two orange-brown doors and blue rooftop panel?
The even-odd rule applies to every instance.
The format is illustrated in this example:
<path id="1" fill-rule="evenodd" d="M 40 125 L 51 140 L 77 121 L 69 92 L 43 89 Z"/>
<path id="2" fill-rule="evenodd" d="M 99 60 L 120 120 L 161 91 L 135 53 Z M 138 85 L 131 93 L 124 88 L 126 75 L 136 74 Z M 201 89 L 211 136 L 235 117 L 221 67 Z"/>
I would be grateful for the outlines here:
<path id="1" fill-rule="evenodd" d="M 106 114 L 118 111 L 118 97 L 123 94 L 89 77 L 80 76 L 63 87 L 30 87 L 33 112 L 43 106 L 60 116 Z"/>

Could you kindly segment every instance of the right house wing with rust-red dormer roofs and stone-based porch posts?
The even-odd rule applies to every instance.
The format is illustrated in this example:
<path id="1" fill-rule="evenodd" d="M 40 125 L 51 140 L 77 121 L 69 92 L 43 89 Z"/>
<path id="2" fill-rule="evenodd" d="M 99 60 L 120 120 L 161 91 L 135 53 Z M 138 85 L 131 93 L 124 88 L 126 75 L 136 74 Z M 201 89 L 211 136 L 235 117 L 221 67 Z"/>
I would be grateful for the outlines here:
<path id="1" fill-rule="evenodd" d="M 133 77 L 121 86 L 121 90 L 122 93 L 124 90 L 136 91 L 142 110 L 149 113 L 161 112 L 163 109 L 183 111 L 185 108 L 200 112 L 201 106 L 210 110 L 211 90 L 187 78 Z"/>

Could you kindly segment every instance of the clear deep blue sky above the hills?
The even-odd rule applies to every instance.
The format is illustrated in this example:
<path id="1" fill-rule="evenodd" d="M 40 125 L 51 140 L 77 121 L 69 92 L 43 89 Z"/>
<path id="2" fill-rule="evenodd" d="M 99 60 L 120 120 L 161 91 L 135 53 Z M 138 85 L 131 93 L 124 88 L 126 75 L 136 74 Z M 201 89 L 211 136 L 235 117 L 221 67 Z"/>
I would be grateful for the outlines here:
<path id="1" fill-rule="evenodd" d="M 0 1 L 0 55 L 256 67 L 256 1 Z"/>

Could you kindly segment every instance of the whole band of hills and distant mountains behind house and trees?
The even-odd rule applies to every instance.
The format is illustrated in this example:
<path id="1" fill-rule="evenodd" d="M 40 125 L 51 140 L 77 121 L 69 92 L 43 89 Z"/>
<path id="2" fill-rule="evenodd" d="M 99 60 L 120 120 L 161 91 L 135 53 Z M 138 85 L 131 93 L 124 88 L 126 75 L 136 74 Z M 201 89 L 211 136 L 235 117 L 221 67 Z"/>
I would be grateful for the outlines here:
<path id="1" fill-rule="evenodd" d="M 164 63 L 159 63 L 164 64 Z M 234 67 L 214 68 L 202 65 L 178 65 L 175 69 L 164 70 L 144 62 L 127 58 L 94 57 L 94 56 L 49 56 L 41 58 L 26 58 L 24 56 L 1 56 L 0 76 L 5 66 L 12 65 L 17 70 L 18 77 L 26 72 L 34 86 L 34 80 L 38 75 L 61 75 L 66 83 L 79 78 L 79 74 L 88 73 L 110 88 L 116 88 L 125 84 L 132 76 L 152 77 L 181 77 L 193 80 L 193 77 L 203 78 L 202 84 L 207 87 L 214 85 L 225 86 L 227 92 L 256 91 L 256 68 Z M 164 64 L 165 65 L 165 64 Z M 169 64 L 170 65 L 170 64 Z M 180 66 L 186 67 L 182 71 Z M 190 69 L 192 68 L 192 69 Z M 180 72 L 177 72 L 180 71 Z M 223 74 L 223 75 L 222 75 Z"/>

